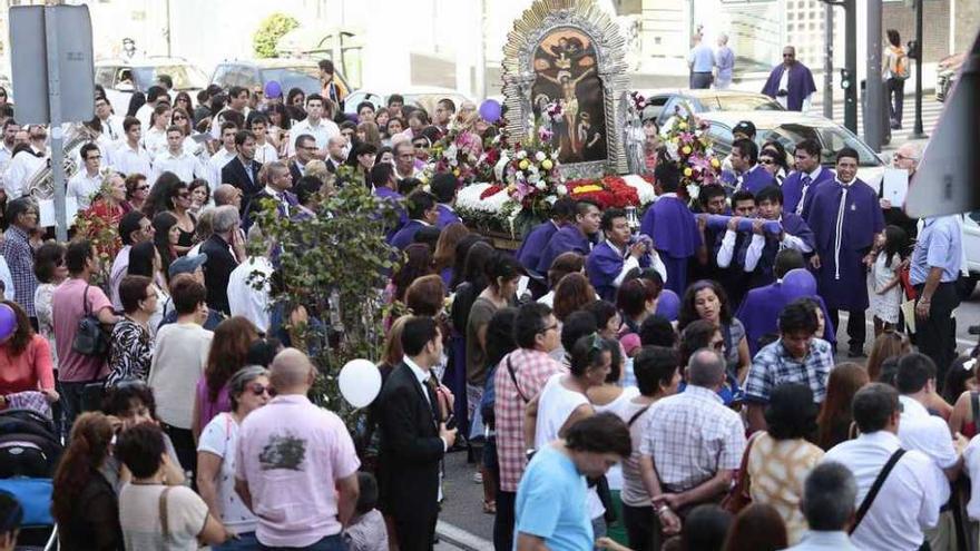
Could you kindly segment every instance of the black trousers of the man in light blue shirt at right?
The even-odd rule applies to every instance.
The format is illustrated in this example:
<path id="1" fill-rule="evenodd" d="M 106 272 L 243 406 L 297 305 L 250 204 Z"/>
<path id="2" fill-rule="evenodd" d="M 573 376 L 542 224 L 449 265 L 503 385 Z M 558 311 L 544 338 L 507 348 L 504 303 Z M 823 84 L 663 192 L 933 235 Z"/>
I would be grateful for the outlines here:
<path id="1" fill-rule="evenodd" d="M 917 285 L 915 291 L 922 294 L 924 285 Z M 919 304 L 919 301 L 915 301 Z M 919 352 L 935 363 L 937 381 L 945 381 L 945 372 L 955 358 L 957 334 L 952 312 L 960 305 L 955 282 L 940 283 L 932 294 L 929 317 L 915 319 L 915 343 Z"/>

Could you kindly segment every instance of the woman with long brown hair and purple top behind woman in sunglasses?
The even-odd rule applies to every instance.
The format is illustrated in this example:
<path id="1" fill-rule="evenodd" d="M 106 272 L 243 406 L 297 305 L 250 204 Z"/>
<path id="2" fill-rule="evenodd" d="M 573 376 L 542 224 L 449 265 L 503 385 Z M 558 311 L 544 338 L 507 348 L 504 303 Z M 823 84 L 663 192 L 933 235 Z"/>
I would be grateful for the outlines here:
<path id="1" fill-rule="evenodd" d="M 232 316 L 215 327 L 204 375 L 197 381 L 194 397 L 194 437 L 215 415 L 232 411 L 228 380 L 245 367 L 252 343 L 258 340 L 258 328 L 244 316 Z"/>

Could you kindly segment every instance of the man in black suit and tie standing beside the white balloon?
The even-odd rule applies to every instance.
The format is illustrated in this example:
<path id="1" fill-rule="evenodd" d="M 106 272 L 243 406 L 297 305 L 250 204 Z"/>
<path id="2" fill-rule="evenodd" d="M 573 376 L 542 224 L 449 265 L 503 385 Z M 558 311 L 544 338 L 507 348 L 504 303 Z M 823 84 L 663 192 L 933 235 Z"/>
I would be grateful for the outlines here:
<path id="1" fill-rule="evenodd" d="M 380 484 L 401 551 L 432 549 L 439 518 L 439 462 L 455 442 L 447 429 L 430 370 L 442 356 L 442 335 L 431 317 L 411 317 L 402 329 L 404 358 L 378 396 L 381 422 Z M 447 404 L 452 411 L 452 404 Z"/>

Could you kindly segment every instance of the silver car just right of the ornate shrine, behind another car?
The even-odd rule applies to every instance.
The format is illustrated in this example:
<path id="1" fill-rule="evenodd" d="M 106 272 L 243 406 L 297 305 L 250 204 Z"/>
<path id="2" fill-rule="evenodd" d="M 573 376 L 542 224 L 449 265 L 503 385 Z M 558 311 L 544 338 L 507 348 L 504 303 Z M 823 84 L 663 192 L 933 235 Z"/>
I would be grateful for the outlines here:
<path id="1" fill-rule="evenodd" d="M 640 95 L 647 98 L 648 105 L 659 110 L 657 125 L 664 126 L 676 109 L 694 111 L 695 114 L 708 111 L 782 111 L 781 106 L 773 98 L 749 91 L 738 90 L 678 90 L 659 89 L 641 90 Z"/>

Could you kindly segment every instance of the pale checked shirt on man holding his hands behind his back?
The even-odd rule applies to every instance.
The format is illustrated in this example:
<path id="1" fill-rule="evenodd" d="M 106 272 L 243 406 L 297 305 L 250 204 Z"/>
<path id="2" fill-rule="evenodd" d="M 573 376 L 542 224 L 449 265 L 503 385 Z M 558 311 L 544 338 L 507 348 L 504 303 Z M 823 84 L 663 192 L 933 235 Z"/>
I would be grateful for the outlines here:
<path id="1" fill-rule="evenodd" d="M 688 385 L 655 403 L 644 417 L 639 453 L 653 456 L 660 483 L 670 492 L 690 490 L 742 463 L 742 417 L 709 388 Z"/>

